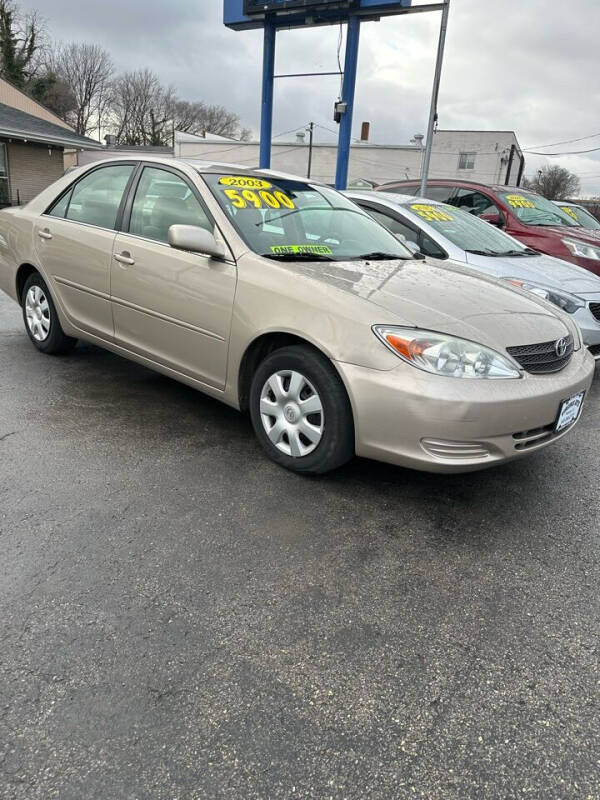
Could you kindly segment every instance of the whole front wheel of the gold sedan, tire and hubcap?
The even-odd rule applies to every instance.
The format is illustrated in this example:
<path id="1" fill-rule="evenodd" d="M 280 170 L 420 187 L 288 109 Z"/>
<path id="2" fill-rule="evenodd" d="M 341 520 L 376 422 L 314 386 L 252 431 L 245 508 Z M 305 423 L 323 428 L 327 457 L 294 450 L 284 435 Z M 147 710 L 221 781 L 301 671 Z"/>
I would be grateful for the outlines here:
<path id="1" fill-rule="evenodd" d="M 284 347 L 266 356 L 252 378 L 250 417 L 269 458 L 293 472 L 319 475 L 354 456 L 344 384 L 328 359 L 310 347 Z"/>

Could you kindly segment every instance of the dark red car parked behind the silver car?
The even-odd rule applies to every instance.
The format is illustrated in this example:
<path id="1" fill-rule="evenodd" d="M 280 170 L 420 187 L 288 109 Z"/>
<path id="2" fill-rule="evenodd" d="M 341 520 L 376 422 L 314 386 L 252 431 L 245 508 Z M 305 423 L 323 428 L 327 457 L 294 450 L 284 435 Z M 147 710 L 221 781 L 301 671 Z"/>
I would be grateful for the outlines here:
<path id="1" fill-rule="evenodd" d="M 420 187 L 420 181 L 395 181 L 376 191 L 418 195 Z M 469 211 L 533 250 L 600 275 L 600 231 L 582 227 L 535 192 L 474 181 L 431 180 L 425 196 Z"/>

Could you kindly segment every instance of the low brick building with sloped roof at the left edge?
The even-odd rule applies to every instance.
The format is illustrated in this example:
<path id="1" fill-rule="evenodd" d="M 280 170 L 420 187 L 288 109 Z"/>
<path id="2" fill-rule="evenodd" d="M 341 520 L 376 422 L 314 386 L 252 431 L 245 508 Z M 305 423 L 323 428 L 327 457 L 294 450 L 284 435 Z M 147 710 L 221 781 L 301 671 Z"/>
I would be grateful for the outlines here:
<path id="1" fill-rule="evenodd" d="M 0 78 L 0 206 L 29 202 L 64 173 L 65 149 L 102 149 Z"/>

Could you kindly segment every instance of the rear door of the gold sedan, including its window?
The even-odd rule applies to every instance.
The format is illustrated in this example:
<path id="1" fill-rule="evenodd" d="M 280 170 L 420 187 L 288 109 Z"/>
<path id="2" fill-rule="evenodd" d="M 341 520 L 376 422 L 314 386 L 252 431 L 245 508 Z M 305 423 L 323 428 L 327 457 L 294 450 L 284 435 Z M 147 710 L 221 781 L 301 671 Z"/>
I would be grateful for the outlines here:
<path id="1" fill-rule="evenodd" d="M 110 264 L 119 209 L 135 163 L 93 169 L 34 227 L 42 271 L 69 320 L 113 338 Z"/>

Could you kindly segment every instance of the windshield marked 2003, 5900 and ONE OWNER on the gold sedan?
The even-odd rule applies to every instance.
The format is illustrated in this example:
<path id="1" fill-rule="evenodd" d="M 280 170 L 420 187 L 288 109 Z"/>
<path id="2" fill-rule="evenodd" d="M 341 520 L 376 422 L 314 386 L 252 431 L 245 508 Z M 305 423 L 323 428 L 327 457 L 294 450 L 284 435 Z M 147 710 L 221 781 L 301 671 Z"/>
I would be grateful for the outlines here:
<path id="1" fill-rule="evenodd" d="M 304 181 L 202 173 L 248 246 L 274 259 L 411 259 L 393 234 L 339 192 Z"/>

